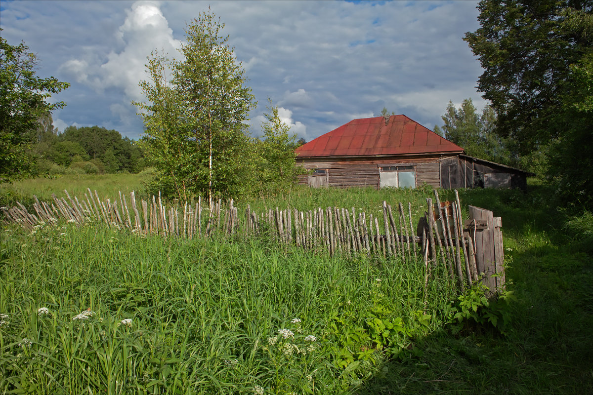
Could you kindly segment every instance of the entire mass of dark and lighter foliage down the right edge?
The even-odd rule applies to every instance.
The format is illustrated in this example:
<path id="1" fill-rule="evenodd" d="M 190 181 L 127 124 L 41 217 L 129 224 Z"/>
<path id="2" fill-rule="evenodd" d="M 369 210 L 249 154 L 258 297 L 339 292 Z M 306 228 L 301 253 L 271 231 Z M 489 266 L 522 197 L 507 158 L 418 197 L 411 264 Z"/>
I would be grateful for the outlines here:
<path id="1" fill-rule="evenodd" d="M 484 73 L 478 90 L 498 114 L 496 133 L 566 202 L 593 192 L 593 2 L 482 1 L 465 40 Z"/>

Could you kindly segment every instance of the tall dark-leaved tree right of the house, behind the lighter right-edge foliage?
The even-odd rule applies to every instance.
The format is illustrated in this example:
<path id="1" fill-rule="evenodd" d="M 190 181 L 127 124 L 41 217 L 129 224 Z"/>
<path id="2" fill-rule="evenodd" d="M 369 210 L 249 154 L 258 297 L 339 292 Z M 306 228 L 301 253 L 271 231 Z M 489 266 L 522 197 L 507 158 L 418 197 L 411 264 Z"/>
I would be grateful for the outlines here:
<path id="1" fill-rule="evenodd" d="M 550 127 L 575 65 L 593 52 L 591 0 L 483 0 L 481 27 L 466 33 L 484 72 L 478 90 L 498 114 L 498 133 L 522 154 L 563 134 Z"/>

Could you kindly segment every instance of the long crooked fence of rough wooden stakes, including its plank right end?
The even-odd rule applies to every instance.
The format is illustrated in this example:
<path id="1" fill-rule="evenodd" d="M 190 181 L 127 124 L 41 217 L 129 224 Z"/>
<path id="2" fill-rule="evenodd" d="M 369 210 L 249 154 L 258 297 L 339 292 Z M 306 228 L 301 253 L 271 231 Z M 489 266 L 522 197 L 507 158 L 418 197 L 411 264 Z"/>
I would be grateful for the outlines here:
<path id="1" fill-rule="evenodd" d="M 83 224 L 101 221 L 117 229 L 129 229 L 140 235 L 156 234 L 165 237 L 213 237 L 240 235 L 273 237 L 278 243 L 294 244 L 314 253 L 326 251 L 330 255 L 363 253 L 384 258 L 396 256 L 403 261 L 422 262 L 425 284 L 435 277 L 440 265 L 458 290 L 482 281 L 491 293 L 503 287 L 501 219 L 492 211 L 469 206 L 469 220 L 463 220 L 457 191 L 455 201 L 441 202 L 434 191 L 435 203 L 426 199 L 425 216 L 413 226 L 412 204 L 398 203 L 394 207 L 382 204 L 382 215 L 368 216 L 355 208 L 318 207 L 299 211 L 295 208 L 267 210 L 256 213 L 250 206 L 240 211 L 231 200 L 223 207 L 218 200 L 213 207 L 203 207 L 202 199 L 183 205 L 165 205 L 161 199 L 136 203 L 134 192 L 129 202 L 119 193 L 119 201 L 101 201 L 97 191 L 87 189 L 85 198 L 58 198 L 52 202 L 34 197 L 36 214 L 29 213 L 17 203 L 2 208 L 5 221 L 19 223 L 32 230 L 41 221 L 53 223 L 65 219 Z M 129 204 L 128 204 L 129 203 Z"/>

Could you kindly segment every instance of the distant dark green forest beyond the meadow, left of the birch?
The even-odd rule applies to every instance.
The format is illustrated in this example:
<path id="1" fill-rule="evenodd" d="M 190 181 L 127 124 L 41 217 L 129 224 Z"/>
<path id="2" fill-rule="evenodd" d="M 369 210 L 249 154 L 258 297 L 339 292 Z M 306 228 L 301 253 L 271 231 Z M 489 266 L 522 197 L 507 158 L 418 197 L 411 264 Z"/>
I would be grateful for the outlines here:
<path id="1" fill-rule="evenodd" d="M 146 167 L 142 143 L 104 127 L 69 126 L 59 133 L 42 118 L 33 144 L 37 174 L 137 173 Z"/>

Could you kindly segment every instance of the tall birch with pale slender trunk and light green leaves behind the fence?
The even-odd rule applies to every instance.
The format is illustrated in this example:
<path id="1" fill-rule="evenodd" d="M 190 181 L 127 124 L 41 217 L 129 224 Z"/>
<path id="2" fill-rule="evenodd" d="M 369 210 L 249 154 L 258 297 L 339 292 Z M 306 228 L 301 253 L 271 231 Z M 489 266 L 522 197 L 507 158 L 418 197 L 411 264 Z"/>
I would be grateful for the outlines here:
<path id="1" fill-rule="evenodd" d="M 222 28 L 212 12 L 203 12 L 186 28 L 184 60 L 153 54 L 147 65 L 151 81 L 141 82 L 149 103 L 136 105 L 149 152 L 160 147 L 176 153 L 171 159 L 157 153 L 153 161 L 180 197 L 206 192 L 212 200 L 215 192 L 233 193 L 240 184 L 240 150 L 248 144 L 243 121 L 254 96 Z"/>

